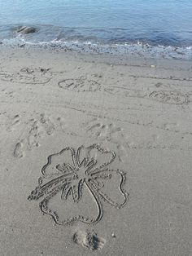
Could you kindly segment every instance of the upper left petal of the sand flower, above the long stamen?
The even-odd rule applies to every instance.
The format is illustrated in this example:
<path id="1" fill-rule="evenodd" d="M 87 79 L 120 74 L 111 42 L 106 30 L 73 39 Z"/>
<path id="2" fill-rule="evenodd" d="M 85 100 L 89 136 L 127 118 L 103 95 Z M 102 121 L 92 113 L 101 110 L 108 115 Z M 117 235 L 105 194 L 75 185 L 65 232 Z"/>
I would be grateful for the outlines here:
<path id="1" fill-rule="evenodd" d="M 59 153 L 50 155 L 47 159 L 46 166 L 43 166 L 41 173 L 55 174 L 55 173 L 69 173 L 75 169 L 75 151 L 73 148 L 64 148 Z"/>

